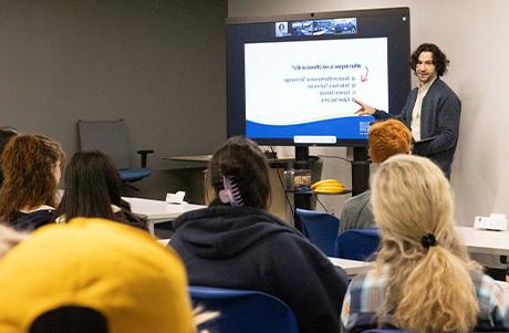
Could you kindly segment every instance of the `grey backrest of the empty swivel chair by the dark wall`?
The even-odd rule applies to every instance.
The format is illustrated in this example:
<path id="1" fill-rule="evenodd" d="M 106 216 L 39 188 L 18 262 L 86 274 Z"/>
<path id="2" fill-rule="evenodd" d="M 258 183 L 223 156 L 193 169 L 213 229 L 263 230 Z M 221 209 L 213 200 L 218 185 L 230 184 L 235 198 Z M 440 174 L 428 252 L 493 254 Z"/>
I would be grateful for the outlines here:
<path id="1" fill-rule="evenodd" d="M 108 155 L 118 169 L 131 167 L 131 148 L 124 119 L 77 122 L 80 150 L 97 149 Z"/>

